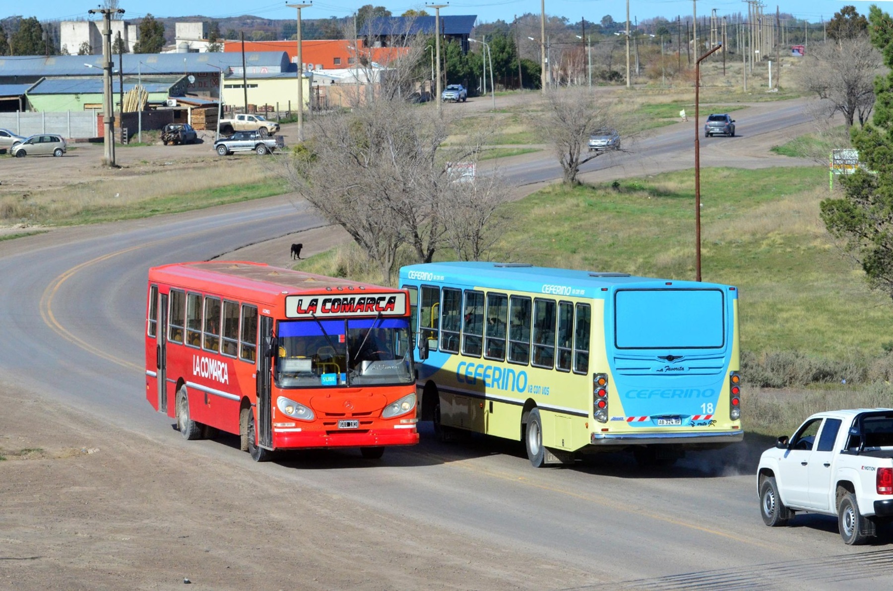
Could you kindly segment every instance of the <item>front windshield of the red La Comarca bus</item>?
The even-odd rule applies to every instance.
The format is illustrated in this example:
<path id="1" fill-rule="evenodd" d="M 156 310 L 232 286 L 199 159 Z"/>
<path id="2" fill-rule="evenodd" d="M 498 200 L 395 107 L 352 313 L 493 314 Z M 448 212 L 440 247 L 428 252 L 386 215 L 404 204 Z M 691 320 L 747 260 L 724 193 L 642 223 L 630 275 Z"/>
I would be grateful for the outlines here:
<path id="1" fill-rule="evenodd" d="M 409 319 L 279 323 L 278 387 L 411 384 Z"/>

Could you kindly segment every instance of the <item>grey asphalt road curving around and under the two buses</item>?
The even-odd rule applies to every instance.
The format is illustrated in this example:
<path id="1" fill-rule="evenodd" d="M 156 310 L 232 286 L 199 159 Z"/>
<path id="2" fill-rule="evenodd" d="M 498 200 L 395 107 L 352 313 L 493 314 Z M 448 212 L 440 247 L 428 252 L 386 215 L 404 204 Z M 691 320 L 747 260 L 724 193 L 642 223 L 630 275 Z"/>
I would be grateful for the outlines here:
<path id="1" fill-rule="evenodd" d="M 799 123 L 798 108 L 764 108 L 759 120 L 741 126 L 743 137 L 730 140 L 746 146 L 747 134 L 755 137 L 758 129 Z M 638 157 L 671 158 L 690 147 L 690 132 L 668 129 L 642 140 Z M 549 171 L 555 176 L 546 160 L 522 169 L 505 171 L 516 183 L 548 179 Z M 287 200 L 270 199 L 0 243 L 0 372 L 48 400 L 89 408 L 194 454 L 196 465 L 244 465 L 255 470 L 257 486 L 269 473 L 413 527 L 448 529 L 470 545 L 529 552 L 555 571 L 553 588 L 838 589 L 855 582 L 881 589 L 893 583 L 887 568 L 893 547 L 847 547 L 834 520 L 805 516 L 792 528 L 765 528 L 752 476 L 754 449 L 691 456 L 672 470 L 642 471 L 620 454 L 573 469 L 533 470 L 520 444 L 474 438 L 438 445 L 423 425 L 421 445 L 389 450 L 379 466 L 359 469 L 369 466 L 356 454 L 253 466 L 227 438 L 184 444 L 143 395 L 146 268 L 212 258 L 320 224 Z M 563 566 L 590 575 L 569 580 Z M 468 587 L 476 586 L 469 581 Z"/>

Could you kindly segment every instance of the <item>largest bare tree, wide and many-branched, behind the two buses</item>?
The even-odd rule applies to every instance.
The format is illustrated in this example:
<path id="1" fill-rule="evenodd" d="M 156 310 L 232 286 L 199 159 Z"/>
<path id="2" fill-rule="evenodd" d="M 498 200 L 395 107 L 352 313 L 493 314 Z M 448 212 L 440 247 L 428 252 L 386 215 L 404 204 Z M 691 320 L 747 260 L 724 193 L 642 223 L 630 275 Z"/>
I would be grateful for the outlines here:
<path id="1" fill-rule="evenodd" d="M 452 224 L 481 227 L 476 244 L 462 243 L 463 253 L 480 256 L 487 246 L 492 212 L 459 206 L 465 202 L 456 194 L 470 189 L 447 171 L 450 160 L 476 162 L 481 142 L 445 148 L 448 125 L 428 105 L 376 93 L 351 112 L 317 118 L 313 139 L 280 162 L 296 193 L 346 229 L 389 283 L 401 246 L 430 262 Z M 472 185 L 481 200 L 505 196 L 497 180 Z"/>

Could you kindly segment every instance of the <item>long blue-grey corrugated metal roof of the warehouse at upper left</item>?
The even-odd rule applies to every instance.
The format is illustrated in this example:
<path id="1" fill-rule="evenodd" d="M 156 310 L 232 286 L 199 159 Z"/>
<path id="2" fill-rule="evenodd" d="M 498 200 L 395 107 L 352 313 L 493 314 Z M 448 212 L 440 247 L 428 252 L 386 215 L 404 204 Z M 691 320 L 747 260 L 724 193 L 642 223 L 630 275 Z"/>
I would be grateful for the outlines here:
<path id="1" fill-rule="evenodd" d="M 176 74 L 184 72 L 218 71 L 242 68 L 242 54 L 124 54 L 124 74 Z M 186 62 L 183 62 L 186 60 Z M 114 56 L 114 69 L 118 57 Z M 270 68 L 287 70 L 288 54 L 283 51 L 264 51 L 245 54 L 250 69 Z M 89 68 L 86 66 L 89 64 Z M 216 66 L 216 67 L 215 67 Z M 11 76 L 102 76 L 102 55 L 13 55 L 0 57 L 0 78 Z"/>

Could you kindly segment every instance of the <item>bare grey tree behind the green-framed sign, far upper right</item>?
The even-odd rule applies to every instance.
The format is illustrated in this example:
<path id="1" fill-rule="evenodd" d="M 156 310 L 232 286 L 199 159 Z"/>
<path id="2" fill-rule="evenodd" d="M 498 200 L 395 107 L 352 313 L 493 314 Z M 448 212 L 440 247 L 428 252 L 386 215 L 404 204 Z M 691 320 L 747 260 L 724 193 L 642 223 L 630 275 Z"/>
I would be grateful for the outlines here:
<path id="1" fill-rule="evenodd" d="M 856 120 L 864 127 L 874 107 L 874 79 L 883 71 L 880 52 L 868 37 L 811 47 L 804 60 L 797 70 L 799 82 L 823 99 L 826 115 L 840 112 L 847 128 Z"/>

